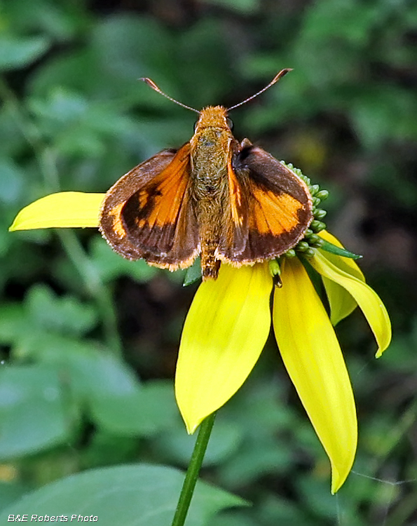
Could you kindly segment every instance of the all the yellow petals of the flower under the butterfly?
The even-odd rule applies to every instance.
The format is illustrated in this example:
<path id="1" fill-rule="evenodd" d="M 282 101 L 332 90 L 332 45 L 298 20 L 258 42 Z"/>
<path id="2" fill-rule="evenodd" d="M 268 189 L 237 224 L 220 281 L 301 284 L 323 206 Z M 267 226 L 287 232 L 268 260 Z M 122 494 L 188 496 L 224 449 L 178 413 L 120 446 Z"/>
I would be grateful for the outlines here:
<path id="1" fill-rule="evenodd" d="M 104 194 L 63 192 L 35 201 L 11 230 L 97 227 Z M 326 231 L 320 236 L 341 244 Z M 282 360 L 331 462 L 331 491 L 343 485 L 357 447 L 353 391 L 333 325 L 358 305 L 374 332 L 379 357 L 390 344 L 385 306 L 348 257 L 315 249 L 308 263 L 322 277 L 330 317 L 299 257 L 281 258 L 282 288 L 268 263 L 235 269 L 222 264 L 216 281 L 196 292 L 182 332 L 175 393 L 186 428 L 198 425 L 238 391 L 268 337 L 272 322 Z"/>

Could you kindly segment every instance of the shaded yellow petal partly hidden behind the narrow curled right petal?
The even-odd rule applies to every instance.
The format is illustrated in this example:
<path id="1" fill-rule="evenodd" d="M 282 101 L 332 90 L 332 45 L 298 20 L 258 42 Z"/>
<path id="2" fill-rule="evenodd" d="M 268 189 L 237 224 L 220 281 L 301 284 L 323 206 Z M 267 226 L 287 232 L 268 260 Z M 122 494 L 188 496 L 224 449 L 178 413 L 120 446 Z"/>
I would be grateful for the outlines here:
<path id="1" fill-rule="evenodd" d="M 343 245 L 339 239 L 329 234 L 329 232 L 324 230 L 320 232 L 320 236 L 326 241 L 329 241 L 329 243 L 333 243 L 334 245 L 343 248 Z M 339 267 L 339 269 L 344 270 L 351 276 L 355 276 L 361 281 L 365 281 L 364 275 L 362 274 L 362 271 L 357 266 L 354 259 L 331 254 L 331 252 L 327 252 L 327 250 L 320 250 L 320 253 L 324 257 L 327 257 L 327 259 L 329 259 L 332 263 L 334 263 L 336 267 Z M 355 302 L 353 296 L 350 295 L 346 289 L 341 287 L 341 285 L 338 283 L 331 281 L 324 276 L 322 276 L 322 281 L 326 290 L 327 299 L 329 299 L 330 321 L 333 323 L 333 325 L 337 325 L 339 321 L 349 316 L 349 314 L 356 309 L 357 303 Z"/>

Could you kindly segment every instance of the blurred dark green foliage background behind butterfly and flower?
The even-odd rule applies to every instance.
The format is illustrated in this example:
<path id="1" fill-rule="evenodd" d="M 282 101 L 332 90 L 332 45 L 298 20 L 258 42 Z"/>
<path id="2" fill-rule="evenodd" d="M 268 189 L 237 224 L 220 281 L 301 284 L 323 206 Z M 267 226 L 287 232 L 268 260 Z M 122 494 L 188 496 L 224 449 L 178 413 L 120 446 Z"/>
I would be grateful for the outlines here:
<path id="1" fill-rule="evenodd" d="M 200 108 L 235 104 L 292 67 L 233 112 L 235 135 L 331 190 L 331 231 L 364 255 L 395 337 L 376 362 L 360 315 L 338 328 L 360 444 L 336 497 L 268 344 L 207 451 L 203 478 L 226 491 L 202 483 L 189 525 L 416 524 L 416 39 L 406 0 L 0 1 L 4 521 L 42 502 L 50 515 L 77 513 L 67 504 L 96 491 L 100 524 L 139 524 L 148 504 L 159 511 L 146 525 L 168 524 L 181 476 L 163 464 L 186 468 L 195 440 L 172 377 L 196 285 L 123 260 L 96 231 L 10 234 L 13 217 L 51 191 L 106 191 L 189 140 L 195 116 L 139 77 Z M 141 497 L 161 484 L 163 499 Z M 252 506 L 216 513 L 243 504 L 230 493 Z"/>

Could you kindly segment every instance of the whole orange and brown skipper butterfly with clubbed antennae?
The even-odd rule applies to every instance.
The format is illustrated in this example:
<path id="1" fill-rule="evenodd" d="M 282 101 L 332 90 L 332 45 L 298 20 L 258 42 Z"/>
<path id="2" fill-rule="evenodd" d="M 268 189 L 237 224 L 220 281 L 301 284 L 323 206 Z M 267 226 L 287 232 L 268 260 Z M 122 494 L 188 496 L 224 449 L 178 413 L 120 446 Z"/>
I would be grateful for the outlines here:
<path id="1" fill-rule="evenodd" d="M 273 259 L 303 238 L 313 220 L 308 187 L 292 170 L 247 139 L 235 139 L 228 112 L 209 106 L 193 137 L 123 175 L 104 198 L 100 231 L 118 254 L 155 267 L 186 269 L 200 255 L 203 280 L 221 262 L 235 267 Z"/>

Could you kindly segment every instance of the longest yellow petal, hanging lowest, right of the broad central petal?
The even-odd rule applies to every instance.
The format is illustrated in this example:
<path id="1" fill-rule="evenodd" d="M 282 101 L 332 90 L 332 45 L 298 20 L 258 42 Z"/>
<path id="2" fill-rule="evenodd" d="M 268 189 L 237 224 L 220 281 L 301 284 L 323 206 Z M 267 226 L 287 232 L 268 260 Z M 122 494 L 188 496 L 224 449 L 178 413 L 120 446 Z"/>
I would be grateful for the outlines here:
<path id="1" fill-rule="evenodd" d="M 331 463 L 331 492 L 355 459 L 355 400 L 339 342 L 299 259 L 284 259 L 273 326 L 288 374 Z"/>

